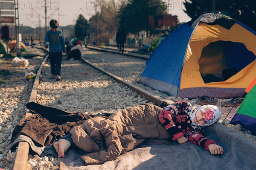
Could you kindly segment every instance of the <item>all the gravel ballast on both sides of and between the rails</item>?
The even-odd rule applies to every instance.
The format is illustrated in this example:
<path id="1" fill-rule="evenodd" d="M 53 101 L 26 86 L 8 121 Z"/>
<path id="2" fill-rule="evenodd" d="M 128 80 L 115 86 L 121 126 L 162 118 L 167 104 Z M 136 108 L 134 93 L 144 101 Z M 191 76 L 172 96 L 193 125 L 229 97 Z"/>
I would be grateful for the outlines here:
<path id="1" fill-rule="evenodd" d="M 96 66 L 100 66 L 166 100 L 172 100 L 174 102 L 186 100 L 192 105 L 201 106 L 196 104 L 198 99 L 175 98 L 143 84 L 136 83 L 136 78 L 145 65 L 145 60 L 143 59 L 88 49 L 85 50 L 84 58 Z M 57 82 L 51 79 L 49 63 L 44 66 L 38 86 L 37 103 L 70 112 L 98 114 L 105 112 L 112 113 L 118 109 L 125 109 L 148 102 L 128 87 L 118 83 L 93 67 L 80 61 L 65 61 L 65 59 L 64 57 L 61 66 L 62 81 Z M 5 147 L 9 144 L 13 128 L 21 118 L 25 117 L 25 105 L 29 101 L 33 82 L 21 81 L 17 76 L 12 79 L 15 80 L 15 83 L 9 82 L 0 85 L 1 89 L 4 89 L 3 92 L 1 90 L 0 95 L 6 96 L 7 94 L 7 98 L 0 99 L 0 167 L 4 167 L 5 169 L 10 169 L 15 160 L 16 152 L 9 152 L 5 150 Z M 9 92 L 9 94 L 6 92 Z M 218 99 L 218 104 L 216 104 L 223 113 L 222 120 L 231 107 L 222 107 L 221 102 L 228 100 L 230 99 Z M 238 107 L 233 108 L 228 116 L 229 119 L 233 117 L 237 109 Z M 228 126 L 233 127 L 231 125 Z M 250 131 L 239 126 L 236 129 L 241 130 L 247 137 L 255 140 L 255 136 Z M 29 156 L 28 161 L 34 170 L 48 170 L 58 169 L 60 158 Z"/>

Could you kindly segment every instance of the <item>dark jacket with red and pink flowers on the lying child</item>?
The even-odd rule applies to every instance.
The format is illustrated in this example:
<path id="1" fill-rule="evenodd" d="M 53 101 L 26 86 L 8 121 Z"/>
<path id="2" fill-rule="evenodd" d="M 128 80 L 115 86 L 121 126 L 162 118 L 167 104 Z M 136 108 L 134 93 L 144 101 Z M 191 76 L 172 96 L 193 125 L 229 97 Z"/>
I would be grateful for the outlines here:
<path id="1" fill-rule="evenodd" d="M 209 150 L 209 144 L 215 144 L 215 141 L 204 137 L 203 127 L 192 124 L 189 113 L 191 112 L 191 104 L 187 101 L 178 101 L 167 107 L 158 115 L 163 127 L 172 135 L 172 140 L 176 140 L 182 136 L 188 138 L 192 144 L 197 144 Z"/>

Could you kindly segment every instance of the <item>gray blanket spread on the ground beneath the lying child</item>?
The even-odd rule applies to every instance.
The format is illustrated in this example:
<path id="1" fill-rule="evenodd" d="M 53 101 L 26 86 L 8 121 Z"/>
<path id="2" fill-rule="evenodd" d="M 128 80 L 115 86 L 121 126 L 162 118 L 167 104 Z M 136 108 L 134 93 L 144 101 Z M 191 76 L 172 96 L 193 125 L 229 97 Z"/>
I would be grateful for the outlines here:
<path id="1" fill-rule="evenodd" d="M 142 144 L 113 161 L 85 166 L 81 151 L 68 150 L 60 170 L 252 170 L 256 167 L 256 143 L 237 130 L 222 124 L 205 128 L 205 137 L 223 147 L 224 154 L 213 156 L 191 143 Z"/>

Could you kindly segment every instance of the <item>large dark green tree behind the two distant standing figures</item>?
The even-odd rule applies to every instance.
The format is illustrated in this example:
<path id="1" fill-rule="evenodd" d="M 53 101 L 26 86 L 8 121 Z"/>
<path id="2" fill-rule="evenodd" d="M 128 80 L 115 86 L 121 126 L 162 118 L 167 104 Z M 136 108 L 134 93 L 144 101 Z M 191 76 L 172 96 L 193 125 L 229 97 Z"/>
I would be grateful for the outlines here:
<path id="1" fill-rule="evenodd" d="M 132 34 L 142 30 L 148 31 L 149 15 L 164 15 L 166 10 L 166 3 L 162 0 L 130 0 L 120 9 L 120 28 Z"/>

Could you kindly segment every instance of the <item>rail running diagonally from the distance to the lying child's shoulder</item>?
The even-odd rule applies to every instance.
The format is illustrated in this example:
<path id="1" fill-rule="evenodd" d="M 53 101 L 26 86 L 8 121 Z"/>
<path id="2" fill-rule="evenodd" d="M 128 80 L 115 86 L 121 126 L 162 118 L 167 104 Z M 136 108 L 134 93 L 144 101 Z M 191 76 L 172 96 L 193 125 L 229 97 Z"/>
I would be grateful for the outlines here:
<path id="1" fill-rule="evenodd" d="M 90 63 L 89 61 L 85 60 L 84 58 L 81 58 L 81 60 L 88 63 L 90 66 L 93 66 L 94 68 L 96 68 L 96 69 L 104 72 L 105 74 L 111 76 L 113 79 L 115 79 L 116 81 L 124 84 L 125 86 L 128 86 L 130 89 L 132 89 L 138 95 L 143 96 L 143 98 L 147 99 L 148 101 L 151 101 L 151 102 L 156 103 L 158 105 L 160 105 L 163 101 L 166 101 L 169 104 L 173 103 L 173 101 L 168 101 L 168 100 L 165 100 L 164 98 L 161 98 L 158 95 L 153 95 L 150 92 L 146 91 L 145 89 L 142 89 L 139 86 L 131 84 L 128 81 L 125 81 L 124 79 L 112 74 L 111 72 L 106 71 L 105 69 L 102 69 L 98 66 L 93 65 L 93 63 Z"/>

